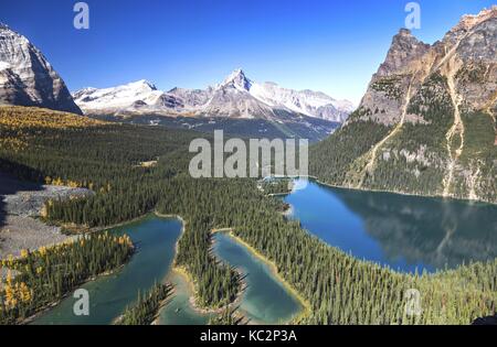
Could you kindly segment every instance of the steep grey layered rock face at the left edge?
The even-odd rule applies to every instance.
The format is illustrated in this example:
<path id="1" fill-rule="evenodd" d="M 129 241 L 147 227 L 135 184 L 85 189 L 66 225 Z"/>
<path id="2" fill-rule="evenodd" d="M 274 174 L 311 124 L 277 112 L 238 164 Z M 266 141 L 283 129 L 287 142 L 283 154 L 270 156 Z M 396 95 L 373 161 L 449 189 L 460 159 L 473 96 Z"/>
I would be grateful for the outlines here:
<path id="1" fill-rule="evenodd" d="M 0 24 L 0 105 L 81 113 L 64 82 L 28 39 Z"/>

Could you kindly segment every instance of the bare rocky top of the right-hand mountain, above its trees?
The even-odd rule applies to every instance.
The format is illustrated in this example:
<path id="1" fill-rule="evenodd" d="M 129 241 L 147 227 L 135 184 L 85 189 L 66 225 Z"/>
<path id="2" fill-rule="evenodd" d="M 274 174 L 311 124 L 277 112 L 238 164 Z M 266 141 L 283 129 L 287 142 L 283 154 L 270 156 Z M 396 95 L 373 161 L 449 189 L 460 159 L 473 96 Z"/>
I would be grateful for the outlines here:
<path id="1" fill-rule="evenodd" d="M 398 123 L 409 87 L 414 96 L 437 73 L 443 77 L 453 75 L 457 93 L 469 109 L 482 109 L 488 102 L 494 105 L 497 87 L 496 13 L 497 7 L 493 7 L 477 15 L 463 17 L 442 41 L 432 46 L 402 29 L 393 37 L 384 63 L 373 75 L 360 104 L 360 108 L 369 113 L 362 120 Z M 420 120 L 420 115 L 409 116 L 413 122 Z"/>

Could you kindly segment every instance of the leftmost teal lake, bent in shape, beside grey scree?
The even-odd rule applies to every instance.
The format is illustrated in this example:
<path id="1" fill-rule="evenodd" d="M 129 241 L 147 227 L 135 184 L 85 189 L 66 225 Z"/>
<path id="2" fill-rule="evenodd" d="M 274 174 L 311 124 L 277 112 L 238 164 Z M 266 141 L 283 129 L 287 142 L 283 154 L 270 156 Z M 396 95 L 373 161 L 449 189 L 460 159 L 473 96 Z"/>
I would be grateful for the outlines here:
<path id="1" fill-rule="evenodd" d="M 33 324 L 112 324 L 127 305 L 136 301 L 139 291 L 146 292 L 155 282 L 161 282 L 166 278 L 175 258 L 181 221 L 149 216 L 114 228 L 110 232 L 129 235 L 138 251 L 116 273 L 81 286 L 89 292 L 89 315 L 74 315 L 76 300 L 68 296 Z"/>

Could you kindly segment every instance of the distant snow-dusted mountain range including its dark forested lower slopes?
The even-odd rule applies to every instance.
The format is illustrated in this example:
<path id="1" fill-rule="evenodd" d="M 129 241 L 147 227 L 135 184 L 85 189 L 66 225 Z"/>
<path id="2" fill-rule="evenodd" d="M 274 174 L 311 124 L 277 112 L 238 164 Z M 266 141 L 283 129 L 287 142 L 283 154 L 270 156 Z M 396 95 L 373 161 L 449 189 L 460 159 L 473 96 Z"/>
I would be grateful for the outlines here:
<path id="1" fill-rule="evenodd" d="M 310 142 L 332 133 L 355 108 L 324 93 L 255 83 L 242 69 L 205 89 L 162 91 L 142 79 L 113 88 L 85 88 L 73 97 L 85 115 L 107 121 L 202 132 L 223 129 L 230 135 Z"/>

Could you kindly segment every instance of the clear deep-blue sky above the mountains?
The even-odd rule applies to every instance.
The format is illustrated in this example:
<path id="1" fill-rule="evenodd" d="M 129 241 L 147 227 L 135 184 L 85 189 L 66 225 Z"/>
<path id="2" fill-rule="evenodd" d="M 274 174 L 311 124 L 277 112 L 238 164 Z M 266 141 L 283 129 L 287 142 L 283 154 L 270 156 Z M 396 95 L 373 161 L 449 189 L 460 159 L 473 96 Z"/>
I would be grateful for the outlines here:
<path id="1" fill-rule="evenodd" d="M 149 79 L 203 88 L 242 67 L 252 79 L 359 101 L 404 26 L 403 0 L 1 0 L 0 21 L 33 42 L 71 90 Z M 413 33 L 433 43 L 494 1 L 421 0 Z"/>

